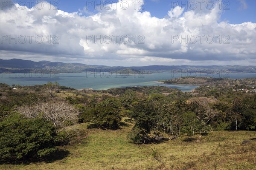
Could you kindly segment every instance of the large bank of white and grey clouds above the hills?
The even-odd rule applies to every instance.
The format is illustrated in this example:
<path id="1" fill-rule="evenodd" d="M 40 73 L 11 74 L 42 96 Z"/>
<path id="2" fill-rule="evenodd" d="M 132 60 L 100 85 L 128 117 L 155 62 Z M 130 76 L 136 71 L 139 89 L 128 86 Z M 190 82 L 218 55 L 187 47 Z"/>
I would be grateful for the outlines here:
<path id="1" fill-rule="evenodd" d="M 9 43 L 1 37 L 1 58 L 62 59 L 63 62 L 75 60 L 104 65 L 211 65 L 209 61 L 220 64 L 255 63 L 256 23 L 218 22 L 222 12 L 218 6 L 212 10 L 185 12 L 177 6 L 166 11 L 170 18 L 157 18 L 151 17 L 148 11 L 134 10 L 131 4 L 134 1 L 126 2 L 130 3 L 126 10 L 121 8 L 122 1 L 119 0 L 111 10 L 103 9 L 87 17 L 82 16 L 81 11 L 68 13 L 55 10 L 53 6 L 49 10 L 46 2 L 41 10 L 35 7 L 1 10 L 1 36 L 7 35 L 8 39 L 9 35 L 12 38 L 15 35 L 34 36 L 32 43 L 27 37 L 24 44 L 19 43 L 18 38 L 17 43 L 14 40 Z M 39 35 L 44 37 L 41 44 L 35 42 Z M 102 43 L 101 40 L 96 43 L 88 40 L 90 35 L 93 39 L 102 35 Z M 124 35 L 128 36 L 129 42 L 122 42 L 125 37 L 122 40 L 120 37 Z M 200 36 L 204 36 L 202 43 Z M 208 41 L 213 36 L 214 42 L 207 43 L 207 36 Z M 112 40 L 107 43 L 109 37 Z M 188 43 L 186 40 L 180 43 L 180 38 L 186 37 Z M 195 37 L 197 42 L 191 43 Z"/>

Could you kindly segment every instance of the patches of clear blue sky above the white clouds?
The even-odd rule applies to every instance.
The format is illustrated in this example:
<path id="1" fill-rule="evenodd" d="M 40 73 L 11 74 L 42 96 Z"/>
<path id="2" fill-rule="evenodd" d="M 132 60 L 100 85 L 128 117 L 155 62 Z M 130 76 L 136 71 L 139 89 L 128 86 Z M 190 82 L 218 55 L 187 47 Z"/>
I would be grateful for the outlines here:
<path id="1" fill-rule="evenodd" d="M 26 1 L 28 0 L 25 0 L 25 2 Z M 118 0 L 58 0 L 58 3 L 55 0 L 48 0 L 49 3 L 57 6 L 62 11 L 76 12 L 79 11 L 79 9 L 83 9 L 83 7 L 88 6 L 89 11 L 94 14 L 98 12 L 97 10 L 94 10 L 94 6 L 100 4 L 100 1 L 103 4 L 105 1 L 114 3 Z M 192 1 L 193 0 L 190 0 L 190 2 L 188 0 L 145 0 L 143 11 L 149 11 L 152 17 L 163 18 L 167 15 L 167 11 L 176 6 L 176 3 L 181 7 L 187 6 L 188 9 L 189 6 L 194 8 Z M 195 0 L 198 6 L 200 5 L 199 1 L 200 0 Z M 215 2 L 216 0 L 210 1 Z M 20 3 L 24 2 L 24 0 L 17 0 L 15 2 Z M 91 2 L 93 3 L 92 6 L 90 6 Z M 256 23 L 256 0 L 222 0 L 222 2 L 224 3 L 222 6 L 224 10 L 220 21 L 228 21 L 232 24 L 249 21 Z M 29 6 L 29 3 L 26 4 Z M 201 4 L 202 6 L 206 6 L 207 1 L 204 1 Z M 140 6 L 140 4 L 137 4 L 137 6 Z M 211 3 L 208 3 L 208 6 L 211 8 Z"/>

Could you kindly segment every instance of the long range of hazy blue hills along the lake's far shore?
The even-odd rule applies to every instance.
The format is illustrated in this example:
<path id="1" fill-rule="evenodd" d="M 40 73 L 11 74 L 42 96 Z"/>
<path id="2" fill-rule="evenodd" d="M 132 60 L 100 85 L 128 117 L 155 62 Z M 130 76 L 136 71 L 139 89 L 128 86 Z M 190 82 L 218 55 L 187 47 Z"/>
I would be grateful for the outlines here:
<path id="1" fill-rule="evenodd" d="M 106 66 L 106 65 L 86 65 L 81 63 L 64 63 L 64 62 L 49 62 L 49 61 L 30 61 L 24 59 L 0 59 L 0 68 L 1 73 L 5 72 L 6 69 L 9 69 L 11 72 L 15 69 L 42 69 L 42 70 L 55 70 L 59 73 L 78 73 L 86 71 L 101 71 L 101 69 L 111 69 L 115 70 L 136 70 L 143 71 L 144 73 L 154 73 L 154 72 L 165 72 L 165 71 L 192 71 L 201 70 L 206 72 L 211 69 L 215 73 L 218 71 L 229 71 L 229 72 L 238 72 L 238 73 L 256 73 L 256 66 L 241 66 L 241 65 L 210 65 L 210 66 L 194 66 L 194 65 L 148 65 L 148 66 L 132 66 L 132 67 L 123 67 L 123 66 Z"/>

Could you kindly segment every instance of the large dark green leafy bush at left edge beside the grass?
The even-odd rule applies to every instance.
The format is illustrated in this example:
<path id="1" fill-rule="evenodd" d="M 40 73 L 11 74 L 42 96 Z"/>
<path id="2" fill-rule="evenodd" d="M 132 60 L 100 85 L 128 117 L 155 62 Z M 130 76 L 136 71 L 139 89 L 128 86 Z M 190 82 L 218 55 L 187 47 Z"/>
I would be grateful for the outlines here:
<path id="1" fill-rule="evenodd" d="M 10 115 L 0 122 L 0 160 L 47 156 L 57 150 L 59 139 L 56 128 L 45 119 Z"/>

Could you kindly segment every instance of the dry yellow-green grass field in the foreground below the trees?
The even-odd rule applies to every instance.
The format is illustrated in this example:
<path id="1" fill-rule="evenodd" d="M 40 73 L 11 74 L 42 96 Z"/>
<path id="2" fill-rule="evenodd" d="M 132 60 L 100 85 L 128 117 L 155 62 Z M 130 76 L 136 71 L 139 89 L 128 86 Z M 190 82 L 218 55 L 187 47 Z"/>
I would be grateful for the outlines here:
<path id="1" fill-rule="evenodd" d="M 87 129 L 75 126 L 79 136 L 61 149 L 63 159 L 29 164 L 2 164 L 1 170 L 256 170 L 256 132 L 214 131 L 201 142 L 184 142 L 187 136 L 160 144 L 132 144 L 119 130 Z M 198 138 L 198 134 L 195 138 Z M 241 144 L 250 140 L 250 144 Z M 154 151 L 153 151 L 154 150 Z"/>

